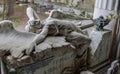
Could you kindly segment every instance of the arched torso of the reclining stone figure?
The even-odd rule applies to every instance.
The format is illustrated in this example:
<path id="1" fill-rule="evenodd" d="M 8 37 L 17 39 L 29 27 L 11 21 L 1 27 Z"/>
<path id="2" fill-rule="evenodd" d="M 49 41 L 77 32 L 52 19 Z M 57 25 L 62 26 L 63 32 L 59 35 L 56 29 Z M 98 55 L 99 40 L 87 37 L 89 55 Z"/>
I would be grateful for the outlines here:
<path id="1" fill-rule="evenodd" d="M 44 26 L 49 26 L 49 35 L 67 35 L 72 31 L 83 34 L 82 30 L 77 27 L 79 23 L 74 23 L 68 20 L 51 19 L 47 20 L 43 24 Z"/>

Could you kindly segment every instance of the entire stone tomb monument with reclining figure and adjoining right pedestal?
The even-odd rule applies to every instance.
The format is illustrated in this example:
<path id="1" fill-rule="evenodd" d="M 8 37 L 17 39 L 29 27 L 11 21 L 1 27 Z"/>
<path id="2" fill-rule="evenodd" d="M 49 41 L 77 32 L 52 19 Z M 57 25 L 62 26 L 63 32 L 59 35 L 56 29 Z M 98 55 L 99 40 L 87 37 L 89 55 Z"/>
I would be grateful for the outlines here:
<path id="1" fill-rule="evenodd" d="M 86 19 L 73 14 L 52 10 L 48 18 L 41 21 L 30 6 L 26 14 L 29 18 L 26 32 L 15 30 L 9 20 L 0 22 L 0 62 L 5 60 L 10 70 L 18 68 L 16 74 L 73 74 L 86 70 L 87 63 L 97 70 L 101 67 L 96 65 L 108 59 L 112 34 L 103 30 L 106 24 L 97 23 L 101 31 L 86 27 L 85 33 L 80 26 Z M 3 66 L 2 63 L 2 72 Z"/>

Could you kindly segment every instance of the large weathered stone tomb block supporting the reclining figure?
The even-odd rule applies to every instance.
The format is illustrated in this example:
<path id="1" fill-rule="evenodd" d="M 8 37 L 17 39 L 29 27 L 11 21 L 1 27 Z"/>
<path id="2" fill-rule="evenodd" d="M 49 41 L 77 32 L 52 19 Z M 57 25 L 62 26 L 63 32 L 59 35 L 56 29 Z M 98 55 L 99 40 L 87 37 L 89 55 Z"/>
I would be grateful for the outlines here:
<path id="1" fill-rule="evenodd" d="M 88 39 L 82 39 L 81 43 Z M 16 68 L 16 74 L 73 74 L 77 69 L 86 67 L 87 43 L 74 48 L 65 37 L 47 37 L 36 46 L 31 57 L 7 60 L 9 67 Z M 12 63 L 12 64 L 10 64 Z"/>

